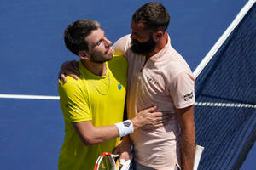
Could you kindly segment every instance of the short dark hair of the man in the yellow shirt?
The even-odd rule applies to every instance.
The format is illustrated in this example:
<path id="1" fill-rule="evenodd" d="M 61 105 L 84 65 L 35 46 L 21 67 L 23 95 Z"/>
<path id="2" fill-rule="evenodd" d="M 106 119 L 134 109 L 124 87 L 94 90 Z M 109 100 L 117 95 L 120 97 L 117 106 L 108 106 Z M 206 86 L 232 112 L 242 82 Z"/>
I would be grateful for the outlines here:
<path id="1" fill-rule="evenodd" d="M 96 20 L 77 20 L 68 25 L 64 31 L 64 42 L 66 47 L 73 53 L 78 55 L 79 51 L 88 51 L 88 42 L 85 38 L 90 35 L 91 31 L 100 28 L 100 24 Z"/>

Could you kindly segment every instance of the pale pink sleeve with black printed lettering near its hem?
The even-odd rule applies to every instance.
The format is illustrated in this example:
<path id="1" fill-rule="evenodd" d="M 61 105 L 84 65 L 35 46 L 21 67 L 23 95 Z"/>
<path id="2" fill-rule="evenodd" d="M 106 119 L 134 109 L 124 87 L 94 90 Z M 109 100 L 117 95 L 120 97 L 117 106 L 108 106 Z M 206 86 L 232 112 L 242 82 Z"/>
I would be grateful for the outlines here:
<path id="1" fill-rule="evenodd" d="M 195 78 L 192 73 L 183 71 L 172 79 L 169 93 L 177 109 L 195 104 Z"/>

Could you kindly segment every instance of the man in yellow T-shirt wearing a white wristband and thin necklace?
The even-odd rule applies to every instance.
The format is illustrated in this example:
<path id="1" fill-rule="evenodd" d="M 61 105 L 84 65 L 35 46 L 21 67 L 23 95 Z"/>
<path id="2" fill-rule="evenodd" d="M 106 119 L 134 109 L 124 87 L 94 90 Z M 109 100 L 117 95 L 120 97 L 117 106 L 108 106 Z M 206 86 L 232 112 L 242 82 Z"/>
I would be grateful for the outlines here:
<path id="1" fill-rule="evenodd" d="M 65 139 L 60 170 L 93 169 L 102 152 L 112 152 L 119 137 L 146 125 L 162 124 L 162 113 L 148 108 L 123 121 L 127 61 L 113 56 L 111 42 L 95 20 L 77 20 L 64 32 L 66 47 L 79 56 L 78 80 L 59 84 Z M 154 112 L 154 114 L 152 114 Z"/>

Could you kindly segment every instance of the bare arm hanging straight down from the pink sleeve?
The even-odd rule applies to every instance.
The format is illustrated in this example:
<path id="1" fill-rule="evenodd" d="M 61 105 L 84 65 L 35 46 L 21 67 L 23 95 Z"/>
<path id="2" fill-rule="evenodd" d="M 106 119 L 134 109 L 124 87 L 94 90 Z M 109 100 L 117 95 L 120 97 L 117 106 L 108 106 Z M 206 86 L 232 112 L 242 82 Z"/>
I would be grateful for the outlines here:
<path id="1" fill-rule="evenodd" d="M 194 106 L 177 109 L 181 127 L 182 169 L 193 170 L 195 159 Z"/>

